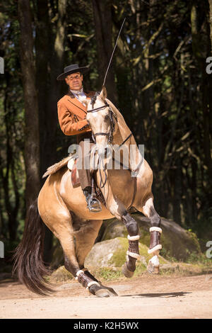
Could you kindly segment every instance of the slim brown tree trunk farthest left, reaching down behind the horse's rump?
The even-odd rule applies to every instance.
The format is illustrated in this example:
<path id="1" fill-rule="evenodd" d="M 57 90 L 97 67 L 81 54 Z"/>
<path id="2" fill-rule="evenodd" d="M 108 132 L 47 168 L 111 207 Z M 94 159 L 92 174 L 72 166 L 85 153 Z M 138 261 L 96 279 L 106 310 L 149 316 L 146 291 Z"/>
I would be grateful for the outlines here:
<path id="1" fill-rule="evenodd" d="M 40 191 L 39 118 L 29 0 L 18 0 L 18 21 L 20 24 L 20 64 L 25 102 L 25 198 L 28 208 Z"/>

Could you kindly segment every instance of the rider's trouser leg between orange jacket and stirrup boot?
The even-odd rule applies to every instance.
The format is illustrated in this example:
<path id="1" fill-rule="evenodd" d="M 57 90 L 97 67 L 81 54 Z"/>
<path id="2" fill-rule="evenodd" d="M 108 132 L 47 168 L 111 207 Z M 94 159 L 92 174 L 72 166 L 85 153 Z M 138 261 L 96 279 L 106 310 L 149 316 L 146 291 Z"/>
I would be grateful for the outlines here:
<path id="1" fill-rule="evenodd" d="M 95 145 L 95 142 L 93 141 L 91 132 L 77 135 L 76 140 L 82 153 L 80 167 L 77 166 L 77 169 L 81 188 L 84 189 L 87 186 L 92 185 L 92 177 L 90 173 L 90 149 Z"/>

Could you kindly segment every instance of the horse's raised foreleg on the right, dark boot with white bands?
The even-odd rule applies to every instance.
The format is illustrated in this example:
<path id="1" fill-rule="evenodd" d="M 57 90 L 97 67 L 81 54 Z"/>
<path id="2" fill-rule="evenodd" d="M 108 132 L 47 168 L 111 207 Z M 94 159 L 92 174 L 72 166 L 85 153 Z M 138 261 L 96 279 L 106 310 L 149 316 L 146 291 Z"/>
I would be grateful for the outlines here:
<path id="1" fill-rule="evenodd" d="M 162 245 L 160 244 L 160 235 L 162 233 L 162 229 L 160 228 L 160 216 L 156 212 L 153 205 L 153 198 L 148 198 L 146 203 L 142 207 L 143 214 L 146 215 L 151 220 L 151 239 L 150 246 L 148 249 L 148 254 L 152 254 L 152 258 L 148 261 L 148 271 L 150 273 L 159 273 L 159 252 L 162 249 Z"/>

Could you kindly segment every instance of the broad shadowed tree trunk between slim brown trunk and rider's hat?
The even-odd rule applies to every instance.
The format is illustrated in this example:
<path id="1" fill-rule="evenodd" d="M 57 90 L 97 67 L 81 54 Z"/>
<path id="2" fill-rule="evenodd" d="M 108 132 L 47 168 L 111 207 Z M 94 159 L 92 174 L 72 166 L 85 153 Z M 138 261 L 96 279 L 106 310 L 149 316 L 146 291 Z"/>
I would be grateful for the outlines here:
<path id="1" fill-rule="evenodd" d="M 63 72 L 64 67 L 65 19 L 66 0 L 59 1 L 56 26 L 49 20 L 48 1 L 37 0 L 36 81 L 40 114 L 40 179 L 47 168 L 57 162 L 57 101 L 61 98 L 61 83 L 57 81 L 57 76 Z M 52 232 L 46 227 L 45 262 L 50 263 L 51 259 Z"/>

